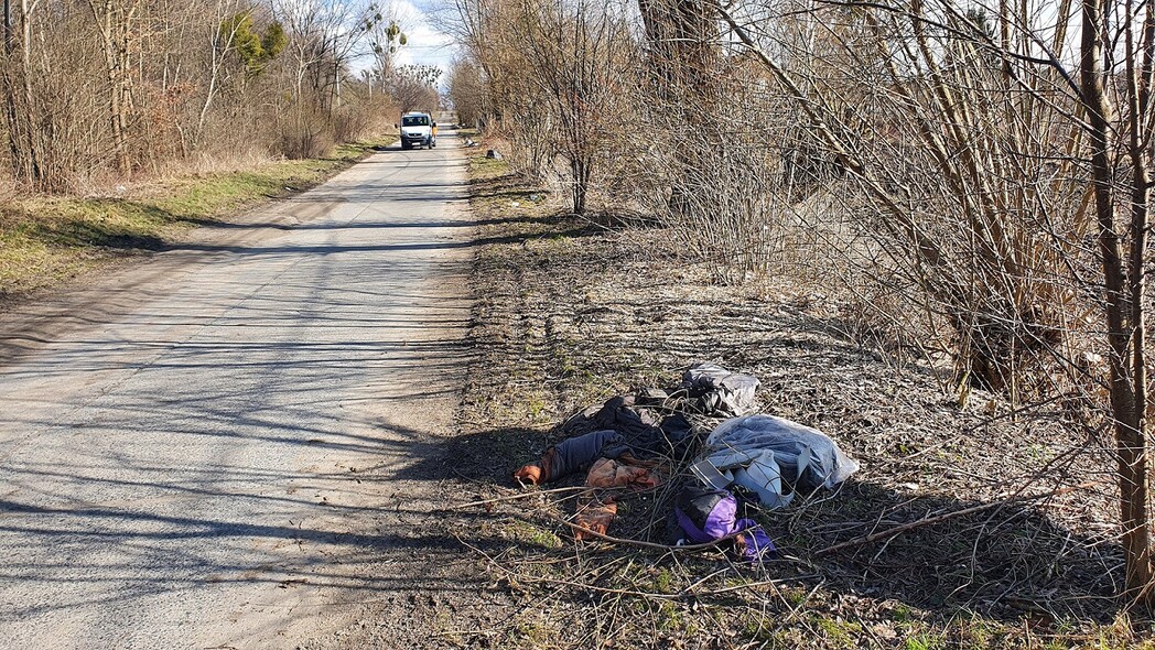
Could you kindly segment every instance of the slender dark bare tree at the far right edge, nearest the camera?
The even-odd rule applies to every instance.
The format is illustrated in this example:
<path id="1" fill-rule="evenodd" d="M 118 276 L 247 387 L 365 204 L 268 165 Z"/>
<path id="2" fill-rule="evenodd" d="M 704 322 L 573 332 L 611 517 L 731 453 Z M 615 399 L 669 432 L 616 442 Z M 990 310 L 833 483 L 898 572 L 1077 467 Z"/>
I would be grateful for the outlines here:
<path id="1" fill-rule="evenodd" d="M 1112 8 L 1105 0 L 1083 0 L 1079 69 L 1090 135 L 1091 190 L 1106 302 L 1126 590 L 1132 600 L 1153 608 L 1155 582 L 1147 473 L 1150 388 L 1145 339 L 1145 306 L 1150 297 L 1145 276 L 1150 221 L 1150 139 L 1155 135 L 1150 114 L 1155 14 L 1150 6 L 1135 8 L 1127 3 L 1124 21 L 1116 23 L 1110 17 Z M 1119 37 L 1122 53 L 1112 45 Z M 1111 54 L 1122 54 L 1122 70 L 1108 70 L 1104 66 Z M 1112 94 L 1119 96 L 1122 112 L 1116 111 Z"/>

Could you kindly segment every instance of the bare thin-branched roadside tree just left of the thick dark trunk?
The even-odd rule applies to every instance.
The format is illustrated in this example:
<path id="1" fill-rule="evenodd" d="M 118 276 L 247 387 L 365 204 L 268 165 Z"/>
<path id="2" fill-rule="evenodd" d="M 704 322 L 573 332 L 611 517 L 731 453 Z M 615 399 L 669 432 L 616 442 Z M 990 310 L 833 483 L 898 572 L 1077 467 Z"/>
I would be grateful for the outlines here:
<path id="1" fill-rule="evenodd" d="M 633 124 L 638 50 L 625 17 L 583 0 L 483 1 L 462 12 L 477 30 L 469 42 L 478 63 L 455 68 L 450 97 L 485 97 L 520 170 L 561 182 L 573 211 L 586 214 L 609 145 Z M 484 92 L 465 90 L 483 77 Z"/>

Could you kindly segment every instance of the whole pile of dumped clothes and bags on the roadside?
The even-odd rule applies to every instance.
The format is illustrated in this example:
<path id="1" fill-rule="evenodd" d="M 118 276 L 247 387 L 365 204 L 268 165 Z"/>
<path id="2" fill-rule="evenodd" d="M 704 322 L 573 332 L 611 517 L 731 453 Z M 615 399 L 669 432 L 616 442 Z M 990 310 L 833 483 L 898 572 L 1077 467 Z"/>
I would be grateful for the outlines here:
<path id="1" fill-rule="evenodd" d="M 818 429 L 754 413 L 759 386 L 752 375 L 695 364 L 677 387 L 619 395 L 575 413 L 559 426 L 565 440 L 513 476 L 541 485 L 584 471 L 589 490 L 571 523 L 576 539 L 608 538 L 624 495 L 679 481 L 678 545 L 770 558 L 769 536 L 744 511 L 784 508 L 798 494 L 833 488 L 858 463 Z"/>

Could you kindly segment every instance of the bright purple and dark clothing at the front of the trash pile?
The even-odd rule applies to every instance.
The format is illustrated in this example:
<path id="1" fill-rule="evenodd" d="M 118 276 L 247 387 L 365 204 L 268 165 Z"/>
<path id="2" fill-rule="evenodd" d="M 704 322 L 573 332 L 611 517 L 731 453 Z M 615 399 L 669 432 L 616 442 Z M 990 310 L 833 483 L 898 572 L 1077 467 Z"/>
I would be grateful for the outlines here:
<path id="1" fill-rule="evenodd" d="M 678 495 L 675 515 L 690 541 L 709 544 L 735 535 L 723 546 L 733 556 L 763 560 L 775 554 L 774 543 L 754 520 L 738 517 L 738 499 L 724 490 L 686 486 Z"/>

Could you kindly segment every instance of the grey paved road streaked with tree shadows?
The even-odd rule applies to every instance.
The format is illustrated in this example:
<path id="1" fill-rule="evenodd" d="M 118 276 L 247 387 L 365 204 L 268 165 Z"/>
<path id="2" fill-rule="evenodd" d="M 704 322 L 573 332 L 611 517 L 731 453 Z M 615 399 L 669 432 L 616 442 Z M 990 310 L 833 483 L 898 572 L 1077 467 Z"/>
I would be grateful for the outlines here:
<path id="1" fill-rule="evenodd" d="M 390 528 L 463 372 L 455 148 L 0 316 L 0 647 L 292 647 L 419 587 Z"/>

